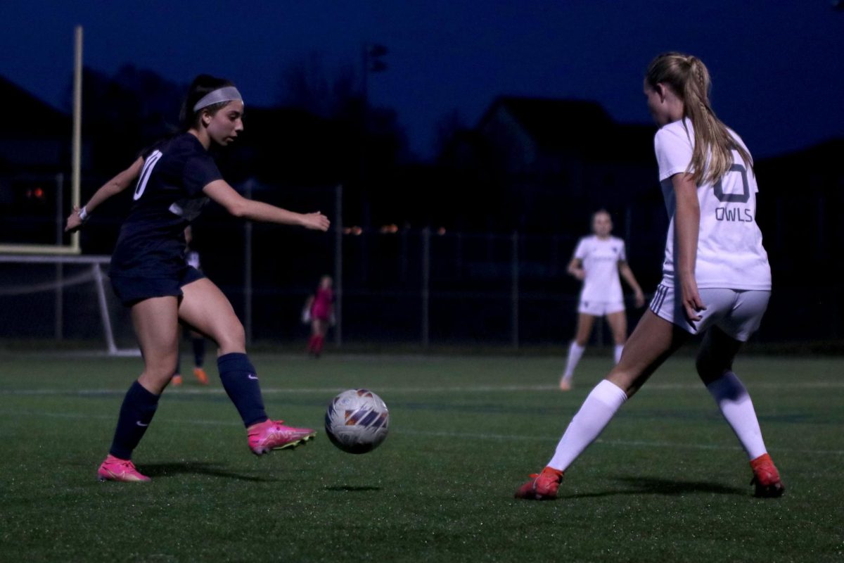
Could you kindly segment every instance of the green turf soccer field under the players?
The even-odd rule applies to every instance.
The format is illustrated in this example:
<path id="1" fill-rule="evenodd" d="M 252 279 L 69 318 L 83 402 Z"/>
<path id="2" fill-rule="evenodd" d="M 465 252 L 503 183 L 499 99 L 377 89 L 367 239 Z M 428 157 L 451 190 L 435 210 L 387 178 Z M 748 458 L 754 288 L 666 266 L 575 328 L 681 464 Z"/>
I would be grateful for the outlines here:
<path id="1" fill-rule="evenodd" d="M 219 380 L 187 376 L 135 452 L 153 481 L 99 483 L 140 360 L 0 355 L 0 560 L 844 560 L 844 359 L 735 365 L 782 499 L 753 498 L 744 452 L 679 357 L 551 502 L 512 494 L 548 461 L 609 358 L 587 356 L 569 393 L 555 391 L 561 358 L 252 360 L 271 416 L 322 430 L 336 392 L 368 387 L 390 407 L 390 436 L 362 456 L 321 431 L 254 457 Z"/>

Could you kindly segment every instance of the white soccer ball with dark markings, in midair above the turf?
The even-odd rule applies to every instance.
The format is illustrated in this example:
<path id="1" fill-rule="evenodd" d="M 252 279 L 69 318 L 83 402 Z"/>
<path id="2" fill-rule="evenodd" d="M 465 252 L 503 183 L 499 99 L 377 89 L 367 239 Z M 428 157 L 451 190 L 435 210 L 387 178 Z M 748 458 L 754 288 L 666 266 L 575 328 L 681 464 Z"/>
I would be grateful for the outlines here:
<path id="1" fill-rule="evenodd" d="M 344 452 L 366 453 L 387 438 L 390 413 L 374 392 L 349 389 L 328 403 L 325 431 L 334 446 Z"/>

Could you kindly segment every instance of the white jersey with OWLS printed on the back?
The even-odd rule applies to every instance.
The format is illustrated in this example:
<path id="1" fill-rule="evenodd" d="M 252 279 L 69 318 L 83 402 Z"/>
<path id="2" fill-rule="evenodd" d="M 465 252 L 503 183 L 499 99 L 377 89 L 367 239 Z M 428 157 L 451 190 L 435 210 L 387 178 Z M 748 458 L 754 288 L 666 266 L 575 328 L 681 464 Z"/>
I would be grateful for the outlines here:
<path id="1" fill-rule="evenodd" d="M 736 143 L 741 138 L 729 130 Z M 690 120 L 668 123 L 657 131 L 654 149 L 659 165 L 659 183 L 668 210 L 668 238 L 665 241 L 663 284 L 676 283 L 674 269 L 674 215 L 677 201 L 671 176 L 689 168 L 695 146 Z M 744 147 L 747 149 L 747 147 Z M 762 233 L 756 225 L 756 177 L 733 150 L 733 166 L 714 185 L 697 187 L 701 205 L 701 226 L 697 239 L 695 280 L 699 288 L 771 290 L 771 267 L 762 246 Z"/>

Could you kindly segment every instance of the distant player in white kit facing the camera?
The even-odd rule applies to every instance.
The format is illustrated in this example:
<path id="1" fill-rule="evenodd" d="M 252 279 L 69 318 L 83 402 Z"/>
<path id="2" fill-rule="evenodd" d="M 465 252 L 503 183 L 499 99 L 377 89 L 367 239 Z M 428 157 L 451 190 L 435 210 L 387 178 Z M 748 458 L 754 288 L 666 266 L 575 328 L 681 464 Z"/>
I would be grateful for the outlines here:
<path id="1" fill-rule="evenodd" d="M 619 273 L 633 289 L 636 306 L 645 304 L 641 287 L 627 264 L 625 241 L 610 235 L 612 231 L 613 219 L 609 213 L 605 209 L 595 212 L 592 215 L 592 235 L 584 236 L 577 243 L 575 255 L 569 263 L 568 273 L 583 282 L 583 289 L 577 305 L 577 332 L 569 345 L 565 371 L 560 378 L 562 391 L 571 389 L 571 377 L 586 349 L 596 317 L 607 318 L 615 343 L 615 363 L 618 364 L 621 359 L 621 350 L 627 340 L 627 315 Z"/>

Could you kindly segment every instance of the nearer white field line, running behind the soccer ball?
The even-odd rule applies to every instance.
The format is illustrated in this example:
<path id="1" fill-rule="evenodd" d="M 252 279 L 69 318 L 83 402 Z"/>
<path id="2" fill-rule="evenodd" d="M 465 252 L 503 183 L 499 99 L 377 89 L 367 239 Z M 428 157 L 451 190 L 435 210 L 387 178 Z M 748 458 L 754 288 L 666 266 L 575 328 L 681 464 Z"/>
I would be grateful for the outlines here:
<path id="1" fill-rule="evenodd" d="M 33 410 L 9 410 L 0 409 L 0 416 L 38 416 L 52 419 L 71 419 L 71 420 L 115 420 L 114 414 L 73 414 L 73 413 L 53 413 L 40 412 Z M 241 426 L 241 423 L 236 420 L 203 420 L 203 419 L 168 419 L 169 422 L 178 425 L 196 425 L 196 426 Z M 491 441 L 547 441 L 553 443 L 559 441 L 559 436 L 536 436 L 536 435 L 518 435 L 518 434 L 490 434 L 485 432 L 444 432 L 444 431 L 429 431 L 429 430 L 390 430 L 392 434 L 407 435 L 407 436 L 425 436 L 433 438 L 449 438 L 452 440 L 491 440 Z M 690 444 L 684 442 L 674 441 L 652 441 L 652 440 L 603 440 L 598 438 L 595 441 L 597 444 L 613 447 L 641 447 L 641 448 L 675 448 L 687 450 L 709 450 L 709 451 L 740 451 L 741 447 L 726 446 L 719 444 Z M 803 448 L 777 447 L 777 453 L 795 453 L 795 454 L 811 454 L 811 455 L 832 455 L 842 456 L 844 450 L 813 450 Z"/>

